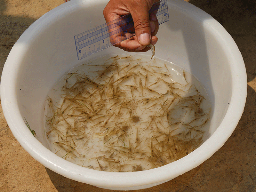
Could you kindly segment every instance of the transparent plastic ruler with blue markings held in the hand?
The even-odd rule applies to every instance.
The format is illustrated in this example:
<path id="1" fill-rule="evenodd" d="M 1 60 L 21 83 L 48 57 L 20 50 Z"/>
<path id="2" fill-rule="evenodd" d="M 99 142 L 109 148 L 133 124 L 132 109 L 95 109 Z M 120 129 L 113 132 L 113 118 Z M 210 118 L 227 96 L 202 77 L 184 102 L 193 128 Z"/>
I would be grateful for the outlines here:
<path id="1" fill-rule="evenodd" d="M 149 13 L 151 12 L 156 14 L 159 25 L 168 21 L 167 0 L 161 0 L 153 4 L 149 10 Z M 75 43 L 78 60 L 131 38 L 134 36 L 129 33 L 131 31 L 134 32 L 134 24 L 131 14 L 128 14 L 76 35 Z M 129 35 L 125 35 L 126 33 Z"/>

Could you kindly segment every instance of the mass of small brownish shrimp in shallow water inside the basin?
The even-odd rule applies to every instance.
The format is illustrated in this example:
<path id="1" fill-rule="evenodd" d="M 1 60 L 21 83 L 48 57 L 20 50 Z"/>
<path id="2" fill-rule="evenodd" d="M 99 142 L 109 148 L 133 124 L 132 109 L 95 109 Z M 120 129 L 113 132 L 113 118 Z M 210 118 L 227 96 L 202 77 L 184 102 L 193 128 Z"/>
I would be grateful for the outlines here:
<path id="1" fill-rule="evenodd" d="M 61 92 L 48 95 L 45 136 L 55 154 L 95 170 L 132 172 L 169 164 L 202 143 L 211 110 L 201 107 L 205 97 L 187 73 L 157 59 L 100 61 L 66 74 Z"/>

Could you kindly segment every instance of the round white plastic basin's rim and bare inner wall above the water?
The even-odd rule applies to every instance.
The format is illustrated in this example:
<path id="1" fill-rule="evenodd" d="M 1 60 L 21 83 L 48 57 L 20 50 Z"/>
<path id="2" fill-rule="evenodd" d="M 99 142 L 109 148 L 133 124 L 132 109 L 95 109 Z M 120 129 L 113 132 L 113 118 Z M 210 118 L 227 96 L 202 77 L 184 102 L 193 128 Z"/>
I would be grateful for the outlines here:
<path id="1" fill-rule="evenodd" d="M 33 23 L 15 43 L 4 65 L 2 108 L 20 145 L 54 172 L 101 188 L 149 188 L 203 163 L 232 134 L 246 100 L 244 61 L 232 37 L 210 15 L 185 1 L 168 1 L 170 20 L 159 26 L 155 56 L 185 68 L 204 84 L 213 104 L 208 137 L 188 156 L 147 171 L 102 172 L 72 164 L 48 149 L 43 136 L 43 102 L 52 85 L 70 68 L 121 51 L 112 46 L 77 59 L 74 36 L 103 24 L 102 11 L 107 3 L 108 0 L 72 0 Z M 25 118 L 38 140 L 28 130 Z"/>

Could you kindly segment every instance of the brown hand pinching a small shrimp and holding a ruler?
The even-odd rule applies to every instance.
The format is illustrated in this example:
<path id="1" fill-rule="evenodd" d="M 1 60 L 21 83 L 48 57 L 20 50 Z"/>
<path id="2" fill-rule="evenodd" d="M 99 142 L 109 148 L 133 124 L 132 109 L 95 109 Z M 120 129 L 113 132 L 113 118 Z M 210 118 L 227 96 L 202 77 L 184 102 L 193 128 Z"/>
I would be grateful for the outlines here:
<path id="1" fill-rule="evenodd" d="M 110 0 L 108 2 L 103 11 L 106 22 L 116 20 L 131 13 L 135 31 L 129 31 L 125 35 L 132 36 L 134 33 L 136 34 L 136 36 L 132 36 L 114 46 L 124 51 L 146 52 L 149 50 L 148 44 L 156 44 L 158 40 L 156 37 L 158 20 L 154 13 L 148 14 L 148 11 L 157 1 L 159 0 Z M 122 38 L 124 33 L 119 35 Z"/>

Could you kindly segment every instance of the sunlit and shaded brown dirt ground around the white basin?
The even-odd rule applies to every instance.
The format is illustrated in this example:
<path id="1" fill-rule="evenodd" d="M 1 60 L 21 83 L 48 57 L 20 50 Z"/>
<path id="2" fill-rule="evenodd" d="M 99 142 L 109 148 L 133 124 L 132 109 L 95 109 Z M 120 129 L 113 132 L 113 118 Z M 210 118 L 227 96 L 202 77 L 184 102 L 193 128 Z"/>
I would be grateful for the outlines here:
<path id="1" fill-rule="evenodd" d="M 188 1 L 188 0 L 187 0 Z M 0 0 L 0 74 L 20 35 L 64 0 Z M 225 145 L 195 169 L 139 192 L 256 191 L 256 1 L 190 0 L 218 20 L 234 38 L 247 70 L 247 101 Z M 170 18 L 172 19 L 172 18 Z M 0 191 L 75 192 L 110 190 L 67 179 L 34 160 L 13 137 L 0 107 Z"/>

